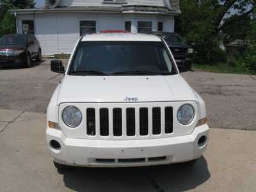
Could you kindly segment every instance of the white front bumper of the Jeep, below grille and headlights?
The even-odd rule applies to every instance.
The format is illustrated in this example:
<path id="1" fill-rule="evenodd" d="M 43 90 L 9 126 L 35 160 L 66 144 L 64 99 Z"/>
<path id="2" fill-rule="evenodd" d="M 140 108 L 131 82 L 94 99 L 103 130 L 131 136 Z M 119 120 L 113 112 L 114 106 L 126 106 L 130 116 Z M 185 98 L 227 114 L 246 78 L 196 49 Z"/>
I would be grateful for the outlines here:
<path id="1" fill-rule="evenodd" d="M 206 136 L 204 145 L 198 140 Z M 197 159 L 207 148 L 208 125 L 196 127 L 192 134 L 151 140 L 83 140 L 67 138 L 62 131 L 47 129 L 47 146 L 56 163 L 72 166 L 122 167 L 180 163 Z M 50 147 L 51 140 L 61 149 Z"/>

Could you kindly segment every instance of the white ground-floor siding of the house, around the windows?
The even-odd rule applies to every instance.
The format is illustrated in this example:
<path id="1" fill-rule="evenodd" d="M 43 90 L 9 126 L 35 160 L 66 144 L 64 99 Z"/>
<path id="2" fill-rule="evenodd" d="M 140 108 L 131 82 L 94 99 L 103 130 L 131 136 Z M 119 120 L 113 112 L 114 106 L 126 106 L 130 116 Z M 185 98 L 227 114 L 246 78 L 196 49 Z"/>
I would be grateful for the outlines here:
<path id="1" fill-rule="evenodd" d="M 26 15 L 24 15 L 26 16 Z M 81 20 L 95 20 L 97 32 L 109 29 L 125 29 L 125 20 L 131 20 L 132 32 L 137 32 L 138 20 L 148 20 L 153 23 L 153 30 L 157 30 L 157 22 L 164 23 L 164 31 L 174 30 L 172 16 L 150 14 L 106 14 L 106 13 L 59 13 L 35 14 L 18 17 L 19 32 L 22 32 L 22 20 L 35 20 L 35 35 L 40 41 L 44 56 L 66 53 L 70 54 L 80 37 L 79 22 Z"/>

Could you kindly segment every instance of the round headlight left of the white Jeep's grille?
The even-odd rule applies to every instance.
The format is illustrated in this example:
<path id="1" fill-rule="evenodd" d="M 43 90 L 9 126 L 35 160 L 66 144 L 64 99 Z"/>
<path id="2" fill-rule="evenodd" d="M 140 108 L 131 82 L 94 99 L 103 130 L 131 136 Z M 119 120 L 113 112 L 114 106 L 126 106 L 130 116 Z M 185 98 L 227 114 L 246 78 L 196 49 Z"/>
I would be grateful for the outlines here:
<path id="1" fill-rule="evenodd" d="M 82 122 L 82 113 L 75 106 L 67 106 L 62 112 L 63 121 L 68 127 L 78 127 Z"/>

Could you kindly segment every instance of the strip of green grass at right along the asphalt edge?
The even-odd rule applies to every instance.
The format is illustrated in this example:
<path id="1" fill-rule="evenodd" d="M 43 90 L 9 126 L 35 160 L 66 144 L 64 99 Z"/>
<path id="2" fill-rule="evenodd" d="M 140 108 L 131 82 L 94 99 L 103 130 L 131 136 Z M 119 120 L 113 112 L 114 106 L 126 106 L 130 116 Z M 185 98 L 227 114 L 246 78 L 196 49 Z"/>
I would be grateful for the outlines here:
<path id="1" fill-rule="evenodd" d="M 212 65 L 193 63 L 192 68 L 198 71 L 215 72 L 225 74 L 246 74 L 245 71 L 239 70 L 236 67 L 228 65 L 228 63 L 214 63 Z"/>

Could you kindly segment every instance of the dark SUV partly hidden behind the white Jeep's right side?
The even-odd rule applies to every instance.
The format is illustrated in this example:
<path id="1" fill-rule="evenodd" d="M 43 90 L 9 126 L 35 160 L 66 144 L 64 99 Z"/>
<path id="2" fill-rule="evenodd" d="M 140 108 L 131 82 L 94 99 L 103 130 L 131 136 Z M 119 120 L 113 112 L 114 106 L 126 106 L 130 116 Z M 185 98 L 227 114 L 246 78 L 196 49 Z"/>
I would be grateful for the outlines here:
<path id="1" fill-rule="evenodd" d="M 152 32 L 154 35 L 164 38 L 170 47 L 180 71 L 191 70 L 191 56 L 193 49 L 186 45 L 178 33 Z"/>

